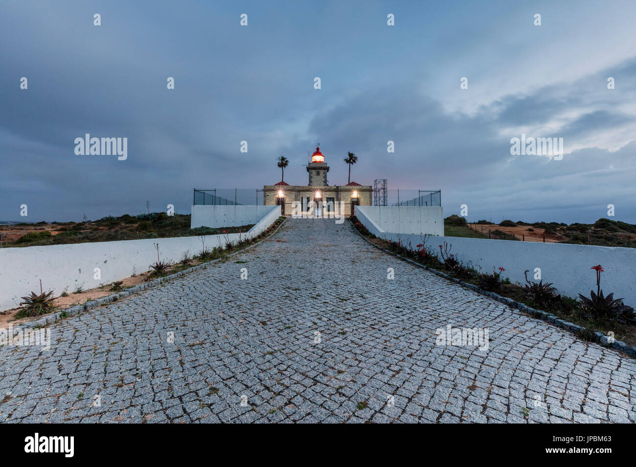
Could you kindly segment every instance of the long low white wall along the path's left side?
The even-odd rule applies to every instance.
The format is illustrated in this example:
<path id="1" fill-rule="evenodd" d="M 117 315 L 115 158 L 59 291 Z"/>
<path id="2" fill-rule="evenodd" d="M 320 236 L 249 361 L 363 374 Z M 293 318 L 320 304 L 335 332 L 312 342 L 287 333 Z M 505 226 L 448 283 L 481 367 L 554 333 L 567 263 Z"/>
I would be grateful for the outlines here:
<path id="1" fill-rule="evenodd" d="M 265 208 L 259 219 L 224 227 L 256 223 L 242 237 L 257 236 L 280 216 L 280 206 Z M 225 246 L 226 238 L 237 241 L 239 234 L 206 235 L 205 247 Z M 86 290 L 148 271 L 149 265 L 157 260 L 153 243 L 158 243 L 162 261 L 179 261 L 184 252 L 196 255 L 202 249 L 198 236 L 0 248 L 0 310 L 18 306 L 22 301 L 20 297 L 31 291 L 39 292 L 40 279 L 43 290 L 53 290 L 53 295 L 58 296 L 64 289 L 71 294 L 78 286 Z M 100 269 L 99 279 L 94 278 L 95 267 Z"/>

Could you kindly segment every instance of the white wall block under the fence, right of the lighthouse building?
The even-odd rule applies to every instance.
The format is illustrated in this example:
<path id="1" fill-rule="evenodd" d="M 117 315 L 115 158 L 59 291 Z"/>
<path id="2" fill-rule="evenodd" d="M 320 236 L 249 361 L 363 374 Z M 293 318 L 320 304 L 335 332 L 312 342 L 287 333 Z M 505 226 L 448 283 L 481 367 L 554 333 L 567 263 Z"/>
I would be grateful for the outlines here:
<path id="1" fill-rule="evenodd" d="M 444 234 L 441 206 L 356 206 L 357 212 L 373 219 L 375 226 L 384 232 Z"/>

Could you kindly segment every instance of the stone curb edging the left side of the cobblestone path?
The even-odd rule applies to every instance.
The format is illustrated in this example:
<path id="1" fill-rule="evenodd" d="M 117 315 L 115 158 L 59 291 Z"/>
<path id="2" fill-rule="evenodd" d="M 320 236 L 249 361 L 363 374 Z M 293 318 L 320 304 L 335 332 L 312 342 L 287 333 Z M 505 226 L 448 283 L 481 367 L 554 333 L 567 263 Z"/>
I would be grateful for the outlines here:
<path id="1" fill-rule="evenodd" d="M 287 220 L 287 219 L 285 219 L 285 220 Z M 254 243 L 254 245 L 249 245 L 249 247 L 245 247 L 242 250 L 239 250 L 237 252 L 232 252 L 229 255 L 232 256 L 232 255 L 236 255 L 236 254 L 242 253 L 245 250 L 249 250 L 250 248 L 256 247 L 256 245 L 259 245 L 260 243 L 263 243 L 263 241 L 267 240 L 273 234 L 275 234 L 275 233 L 277 233 L 279 231 L 280 227 L 282 227 L 282 225 L 285 223 L 285 220 L 280 222 L 280 226 L 276 227 L 275 231 L 273 231 L 271 234 L 269 234 L 268 236 L 263 238 L 263 240 Z M 12 334 L 16 335 L 16 334 L 18 334 L 18 332 L 22 332 L 25 329 L 42 328 L 42 327 L 45 327 L 48 324 L 54 323 L 55 321 L 60 321 L 60 320 L 63 320 L 64 318 L 68 318 L 69 316 L 77 315 L 81 311 L 88 311 L 89 309 L 98 308 L 100 306 L 116 302 L 119 299 L 122 299 L 124 297 L 128 297 L 130 295 L 134 295 L 137 292 L 141 292 L 142 290 L 146 290 L 147 288 L 152 288 L 152 287 L 155 287 L 156 285 L 159 285 L 159 284 L 161 284 L 163 282 L 167 282 L 167 281 L 179 278 L 181 276 L 185 276 L 186 274 L 193 273 L 194 271 L 198 271 L 198 269 L 205 269 L 210 264 L 214 264 L 214 263 L 216 263 L 218 261 L 221 261 L 221 259 L 223 259 L 223 258 L 213 259 L 212 261 L 204 262 L 202 264 L 197 264 L 197 266 L 192 266 L 192 267 L 189 267 L 188 269 L 183 269 L 183 271 L 179 271 L 178 273 L 170 274 L 169 276 L 160 277 L 160 278 L 157 278 L 157 279 L 149 281 L 149 282 L 144 282 L 144 283 L 141 283 L 141 284 L 137 284 L 137 285 L 135 285 L 133 287 L 127 288 L 126 290 L 123 290 L 121 292 L 117 292 L 116 294 L 107 295 L 106 297 L 101 297 L 101 298 L 99 298 L 97 300 L 92 300 L 92 301 L 86 302 L 85 304 L 82 304 L 82 305 L 72 306 L 71 308 L 66 308 L 66 309 L 63 309 L 62 311 L 57 311 L 56 313 L 51 313 L 50 315 L 43 316 L 42 318 L 40 318 L 37 321 L 28 321 L 26 323 L 22 323 L 20 325 L 14 326 L 12 328 L 13 329 L 13 333 Z M 62 315 L 64 315 L 64 316 L 62 316 Z M 5 331 L 0 331 L 0 332 L 5 332 Z M 13 336 L 11 336 L 11 337 L 13 337 Z"/>

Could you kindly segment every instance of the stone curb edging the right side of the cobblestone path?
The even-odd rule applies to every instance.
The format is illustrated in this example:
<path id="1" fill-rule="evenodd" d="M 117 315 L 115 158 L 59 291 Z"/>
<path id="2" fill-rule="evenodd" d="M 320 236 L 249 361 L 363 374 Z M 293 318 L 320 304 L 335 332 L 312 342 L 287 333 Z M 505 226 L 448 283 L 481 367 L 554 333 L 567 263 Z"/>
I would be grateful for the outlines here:
<path id="1" fill-rule="evenodd" d="M 488 292 L 488 290 L 483 290 L 481 288 L 479 288 L 478 286 L 474 285 L 474 284 L 469 284 L 467 282 L 461 281 L 459 279 L 456 279 L 454 277 L 449 276 L 448 274 L 442 273 L 441 271 L 438 271 L 437 269 L 433 269 L 432 267 L 428 267 L 428 266 L 424 266 L 424 264 L 420 264 L 417 261 L 413 261 L 410 258 L 405 258 L 401 255 L 398 255 L 397 253 L 394 253 L 390 250 L 387 250 L 386 248 L 382 248 L 382 247 L 378 247 L 378 245 L 376 245 L 375 243 L 373 243 L 372 241 L 370 241 L 368 238 L 366 238 L 363 234 L 359 233 L 356 229 L 356 227 L 351 223 L 351 221 L 349 221 L 349 224 L 351 226 L 352 229 L 354 229 L 354 231 L 356 231 L 356 233 L 361 236 L 361 238 L 363 238 L 363 240 L 365 240 L 367 243 L 369 243 L 370 245 L 372 245 L 375 248 L 378 248 L 379 250 L 382 250 L 390 255 L 396 256 L 399 259 L 403 260 L 403 261 L 407 261 L 410 262 L 411 264 L 417 266 L 417 267 L 422 267 L 423 269 L 426 269 L 427 271 L 436 274 L 437 276 L 443 277 L 447 280 L 453 281 L 459 285 L 461 285 L 464 288 L 469 288 L 470 290 L 473 290 L 473 292 L 477 292 L 478 294 L 481 295 L 486 295 L 487 297 L 490 297 L 491 299 L 494 299 L 498 302 L 501 302 L 503 304 L 506 304 L 508 306 L 511 306 L 512 308 L 516 308 L 520 311 L 523 311 L 525 313 L 529 313 L 529 315 L 535 316 L 536 318 L 540 318 L 543 321 L 548 321 L 548 323 L 555 325 L 556 327 L 560 327 L 562 329 L 565 329 L 569 332 L 572 332 L 572 334 L 577 335 L 577 337 L 580 337 L 581 335 L 583 335 L 586 332 L 590 332 L 588 329 L 584 328 L 583 326 L 579 326 L 577 324 L 574 323 L 570 323 L 569 321 L 565 321 L 565 320 L 561 320 L 560 318 L 558 318 L 557 316 L 553 315 L 552 313 L 548 313 L 547 311 L 542 311 L 542 310 L 537 310 L 534 309 L 530 306 L 527 306 L 525 303 L 520 303 L 517 302 L 513 299 L 509 299 L 508 297 L 502 297 L 499 294 L 495 294 L 495 292 Z M 379 238 L 379 237 L 378 237 Z M 382 240 L 382 239 L 380 239 Z M 588 334 L 589 335 L 589 334 Z M 625 353 L 628 356 L 631 357 L 636 357 L 636 347 L 630 346 L 628 344 L 625 344 L 625 342 L 623 341 L 614 341 L 614 342 L 609 342 L 609 338 L 607 335 L 603 334 L 600 331 L 593 331 L 591 332 L 591 335 L 593 336 L 593 341 L 596 342 L 597 344 L 600 344 L 604 347 L 609 347 L 611 349 L 614 350 L 618 350 L 619 352 Z"/>

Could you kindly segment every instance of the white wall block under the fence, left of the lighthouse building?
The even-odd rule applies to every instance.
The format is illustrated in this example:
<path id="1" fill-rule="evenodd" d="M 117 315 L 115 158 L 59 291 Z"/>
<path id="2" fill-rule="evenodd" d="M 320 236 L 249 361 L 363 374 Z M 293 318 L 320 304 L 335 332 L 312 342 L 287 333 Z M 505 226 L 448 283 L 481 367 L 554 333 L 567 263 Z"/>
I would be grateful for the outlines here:
<path id="1" fill-rule="evenodd" d="M 256 224 L 273 206 L 192 206 L 190 228 Z"/>

